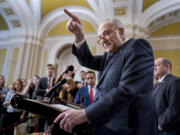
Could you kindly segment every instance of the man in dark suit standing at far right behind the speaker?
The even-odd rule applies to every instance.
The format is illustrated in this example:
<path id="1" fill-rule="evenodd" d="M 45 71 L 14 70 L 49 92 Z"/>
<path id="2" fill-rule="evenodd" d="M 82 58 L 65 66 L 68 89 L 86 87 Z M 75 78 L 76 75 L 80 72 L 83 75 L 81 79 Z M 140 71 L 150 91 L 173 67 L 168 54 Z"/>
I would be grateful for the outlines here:
<path id="1" fill-rule="evenodd" d="M 167 58 L 155 60 L 154 88 L 160 135 L 180 135 L 180 78 L 171 74 L 172 64 Z"/>

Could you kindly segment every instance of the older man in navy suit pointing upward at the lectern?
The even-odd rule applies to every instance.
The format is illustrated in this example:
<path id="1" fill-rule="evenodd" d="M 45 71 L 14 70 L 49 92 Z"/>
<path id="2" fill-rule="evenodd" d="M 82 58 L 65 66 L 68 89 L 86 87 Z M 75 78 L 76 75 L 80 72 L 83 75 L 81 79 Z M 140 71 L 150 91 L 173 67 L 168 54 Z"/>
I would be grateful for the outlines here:
<path id="1" fill-rule="evenodd" d="M 98 96 L 86 109 L 68 109 L 54 122 L 60 121 L 60 128 L 68 132 L 78 124 L 90 122 L 96 135 L 156 135 L 150 44 L 144 39 L 125 41 L 121 22 L 106 20 L 98 29 L 98 43 L 105 53 L 93 56 L 79 18 L 64 11 L 71 17 L 67 28 L 75 35 L 73 54 L 82 66 L 99 71 Z"/>

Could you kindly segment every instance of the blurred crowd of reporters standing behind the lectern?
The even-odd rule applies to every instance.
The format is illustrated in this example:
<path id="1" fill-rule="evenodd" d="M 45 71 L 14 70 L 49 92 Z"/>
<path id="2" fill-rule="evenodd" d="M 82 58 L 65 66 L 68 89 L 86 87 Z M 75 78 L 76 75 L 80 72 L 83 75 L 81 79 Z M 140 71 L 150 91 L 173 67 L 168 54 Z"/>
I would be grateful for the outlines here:
<path id="1" fill-rule="evenodd" d="M 47 103 L 50 102 L 50 98 L 44 97 L 44 95 L 65 79 L 65 83 L 57 88 L 53 98 L 83 106 L 92 103 L 96 94 L 95 72 L 81 70 L 78 73 L 80 80 L 75 80 L 74 76 L 79 70 L 78 67 L 68 65 L 57 77 L 55 77 L 56 69 L 53 64 L 48 64 L 45 68 L 45 76 L 34 75 L 29 80 L 18 78 L 8 87 L 5 86 L 5 77 L 0 75 L 0 135 L 35 133 L 47 135 L 50 132 L 49 128 L 52 123 L 46 118 L 11 106 L 11 99 L 15 94 L 25 95 L 29 99 Z"/>

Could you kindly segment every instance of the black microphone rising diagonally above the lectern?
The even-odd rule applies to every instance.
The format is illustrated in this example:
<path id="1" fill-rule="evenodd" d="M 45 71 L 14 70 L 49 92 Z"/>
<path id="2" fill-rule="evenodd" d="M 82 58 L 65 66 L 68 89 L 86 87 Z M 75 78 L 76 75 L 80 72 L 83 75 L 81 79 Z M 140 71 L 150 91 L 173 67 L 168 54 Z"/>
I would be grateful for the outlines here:
<path id="1" fill-rule="evenodd" d="M 56 85 L 54 85 L 50 90 L 49 92 L 47 92 L 44 96 L 44 97 L 51 97 L 51 95 L 56 92 L 56 89 L 61 87 L 61 85 L 65 84 L 67 82 L 66 79 L 62 79 L 60 82 L 58 82 Z"/>

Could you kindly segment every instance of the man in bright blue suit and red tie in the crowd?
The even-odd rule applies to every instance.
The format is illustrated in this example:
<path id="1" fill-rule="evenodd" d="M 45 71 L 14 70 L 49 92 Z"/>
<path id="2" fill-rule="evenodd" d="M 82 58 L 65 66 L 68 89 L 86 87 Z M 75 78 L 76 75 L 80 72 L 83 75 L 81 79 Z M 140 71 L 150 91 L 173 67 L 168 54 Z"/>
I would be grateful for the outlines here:
<path id="1" fill-rule="evenodd" d="M 92 104 L 93 98 L 96 95 L 96 75 L 93 71 L 86 73 L 86 83 L 86 86 L 78 90 L 74 102 L 87 107 Z"/>

